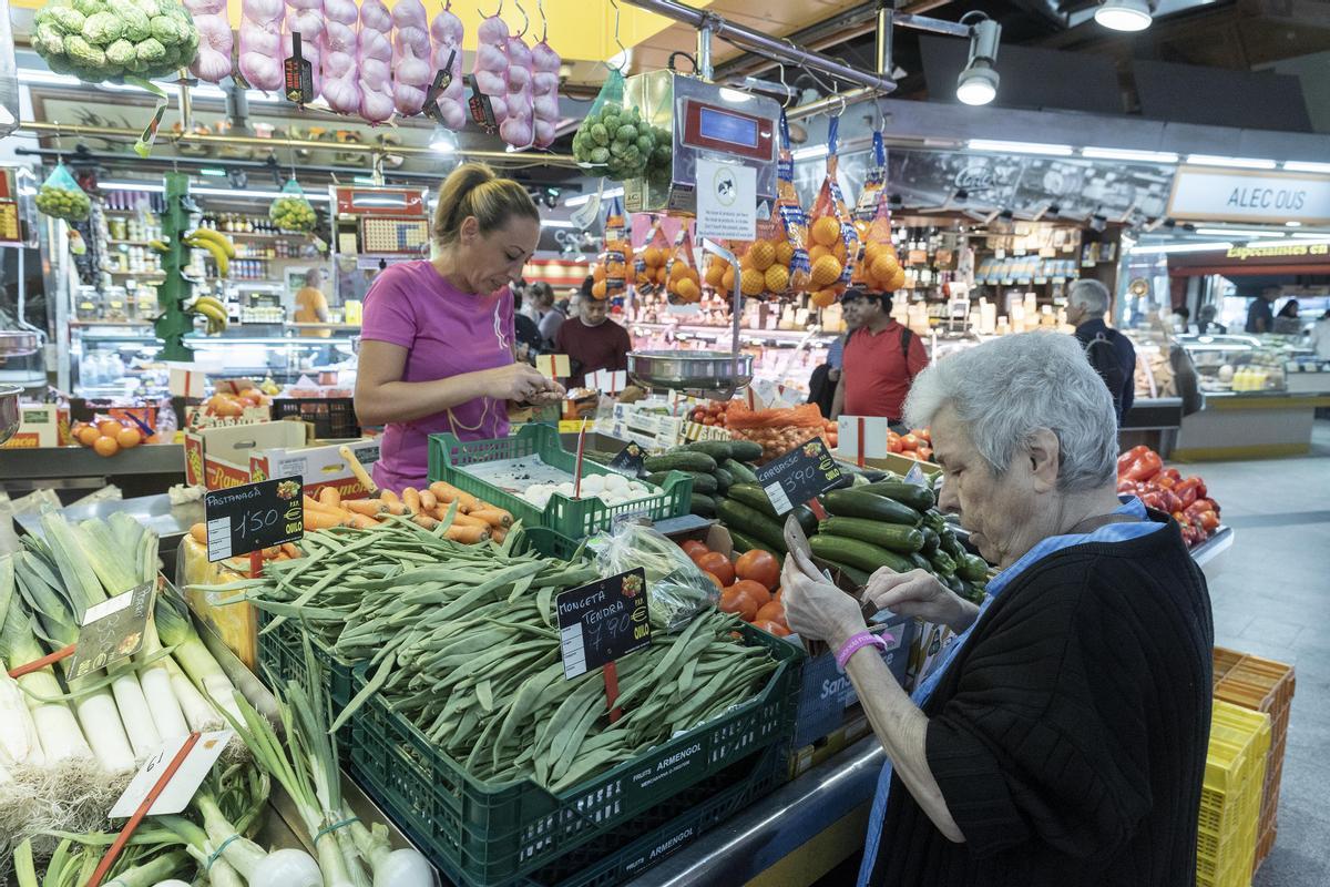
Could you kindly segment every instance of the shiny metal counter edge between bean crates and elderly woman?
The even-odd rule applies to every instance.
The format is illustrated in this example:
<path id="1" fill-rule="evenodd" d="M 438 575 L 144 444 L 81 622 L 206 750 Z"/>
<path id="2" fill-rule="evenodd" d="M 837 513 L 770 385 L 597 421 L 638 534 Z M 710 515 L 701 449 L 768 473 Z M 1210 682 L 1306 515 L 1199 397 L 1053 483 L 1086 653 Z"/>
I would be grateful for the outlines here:
<path id="1" fill-rule="evenodd" d="M 868 735 L 702 835 L 626 887 L 743 884 L 872 798 L 886 754 Z"/>

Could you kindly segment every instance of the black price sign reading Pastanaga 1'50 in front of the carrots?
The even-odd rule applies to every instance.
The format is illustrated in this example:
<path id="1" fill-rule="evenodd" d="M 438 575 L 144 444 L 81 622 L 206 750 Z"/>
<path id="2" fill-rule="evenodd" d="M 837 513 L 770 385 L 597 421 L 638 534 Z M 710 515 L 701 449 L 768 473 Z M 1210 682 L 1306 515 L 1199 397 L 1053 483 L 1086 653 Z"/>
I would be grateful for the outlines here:
<path id="1" fill-rule="evenodd" d="M 207 560 L 219 561 L 305 535 L 305 487 L 299 477 L 261 480 L 203 493 Z"/>

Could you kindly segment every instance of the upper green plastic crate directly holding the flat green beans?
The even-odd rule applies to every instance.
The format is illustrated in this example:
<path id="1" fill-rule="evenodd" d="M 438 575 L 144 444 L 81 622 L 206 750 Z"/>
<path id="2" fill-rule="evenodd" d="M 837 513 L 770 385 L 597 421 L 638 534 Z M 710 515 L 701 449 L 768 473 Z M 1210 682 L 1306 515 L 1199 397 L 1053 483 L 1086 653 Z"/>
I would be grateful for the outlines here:
<path id="1" fill-rule="evenodd" d="M 778 662 L 762 693 L 557 797 L 529 779 L 480 782 L 382 697 L 371 697 L 354 718 L 351 774 L 372 787 L 384 811 L 463 883 L 520 883 L 519 878 L 729 765 L 773 745 L 789 746 L 799 653 L 755 628 L 742 630 Z M 363 666 L 355 681 L 363 686 Z"/>

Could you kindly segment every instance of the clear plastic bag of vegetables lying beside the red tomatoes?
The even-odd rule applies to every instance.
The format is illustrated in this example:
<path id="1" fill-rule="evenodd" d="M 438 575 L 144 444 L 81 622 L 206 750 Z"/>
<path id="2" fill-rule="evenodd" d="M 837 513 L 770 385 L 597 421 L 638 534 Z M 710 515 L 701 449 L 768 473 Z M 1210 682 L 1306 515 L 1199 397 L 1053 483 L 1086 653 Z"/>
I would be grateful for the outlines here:
<path id="1" fill-rule="evenodd" d="M 684 549 L 650 527 L 624 521 L 608 533 L 592 536 L 587 544 L 596 552 L 596 568 L 602 577 L 638 567 L 646 570 L 646 608 L 654 630 L 677 632 L 721 601 L 721 589 Z"/>

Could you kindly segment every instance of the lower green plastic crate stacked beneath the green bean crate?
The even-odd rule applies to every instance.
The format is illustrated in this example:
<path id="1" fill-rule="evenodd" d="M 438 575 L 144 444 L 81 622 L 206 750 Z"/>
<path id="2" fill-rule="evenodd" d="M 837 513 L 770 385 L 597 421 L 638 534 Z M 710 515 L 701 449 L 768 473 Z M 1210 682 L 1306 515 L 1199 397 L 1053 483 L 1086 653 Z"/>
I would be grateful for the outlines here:
<path id="1" fill-rule="evenodd" d="M 735 815 L 754 801 L 770 794 L 789 778 L 789 758 L 778 745 L 767 746 L 720 773 L 689 786 L 625 824 L 568 851 L 555 862 L 511 882 L 512 887 L 613 887 L 636 878 L 653 864 Z M 384 793 L 362 783 L 364 793 L 380 807 Z M 398 828 L 416 847 L 426 847 L 410 823 Z M 447 859 L 428 854 L 443 872 L 444 883 L 471 884 L 452 870 Z"/>

